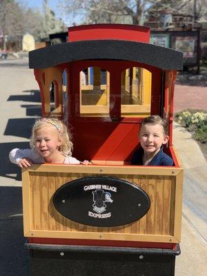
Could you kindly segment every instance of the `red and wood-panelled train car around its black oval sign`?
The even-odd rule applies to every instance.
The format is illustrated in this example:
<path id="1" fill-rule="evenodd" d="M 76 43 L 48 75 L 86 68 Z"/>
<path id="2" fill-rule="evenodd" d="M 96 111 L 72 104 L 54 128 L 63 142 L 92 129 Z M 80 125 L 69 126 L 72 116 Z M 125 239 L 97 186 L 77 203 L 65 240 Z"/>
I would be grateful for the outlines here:
<path id="1" fill-rule="evenodd" d="M 24 235 L 31 244 L 172 249 L 181 234 L 183 169 L 172 146 L 172 112 L 182 54 L 151 45 L 149 29 L 139 26 L 77 26 L 69 28 L 68 37 L 67 43 L 30 52 L 30 68 L 39 83 L 43 117 L 63 119 L 72 132 L 73 156 L 93 164 L 23 169 Z M 141 119 L 156 114 L 168 120 L 165 150 L 175 166 L 130 166 Z M 144 190 L 148 212 L 130 223 L 100 226 L 95 217 L 87 224 L 57 211 L 52 199 L 59 188 L 78 179 L 95 183 L 96 177 L 121 179 Z M 78 200 L 81 206 L 77 195 Z"/>

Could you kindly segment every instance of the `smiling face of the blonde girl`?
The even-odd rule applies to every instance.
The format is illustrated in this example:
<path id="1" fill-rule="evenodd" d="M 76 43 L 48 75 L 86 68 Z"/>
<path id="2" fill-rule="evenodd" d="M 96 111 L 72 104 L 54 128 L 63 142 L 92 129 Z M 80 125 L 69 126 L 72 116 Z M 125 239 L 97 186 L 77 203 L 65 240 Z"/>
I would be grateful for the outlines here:
<path id="1" fill-rule="evenodd" d="M 52 159 L 61 145 L 59 132 L 53 126 L 45 126 L 36 130 L 34 141 L 36 150 L 44 159 Z"/>

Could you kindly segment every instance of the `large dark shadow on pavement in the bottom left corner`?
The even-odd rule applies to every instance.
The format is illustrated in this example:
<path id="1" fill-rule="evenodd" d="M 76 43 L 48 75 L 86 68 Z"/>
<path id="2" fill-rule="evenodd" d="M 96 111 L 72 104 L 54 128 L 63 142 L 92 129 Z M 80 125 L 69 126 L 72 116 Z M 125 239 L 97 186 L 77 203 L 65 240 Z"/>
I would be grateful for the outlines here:
<path id="1" fill-rule="evenodd" d="M 28 276 L 29 252 L 23 244 L 21 187 L 0 187 L 0 275 Z"/>

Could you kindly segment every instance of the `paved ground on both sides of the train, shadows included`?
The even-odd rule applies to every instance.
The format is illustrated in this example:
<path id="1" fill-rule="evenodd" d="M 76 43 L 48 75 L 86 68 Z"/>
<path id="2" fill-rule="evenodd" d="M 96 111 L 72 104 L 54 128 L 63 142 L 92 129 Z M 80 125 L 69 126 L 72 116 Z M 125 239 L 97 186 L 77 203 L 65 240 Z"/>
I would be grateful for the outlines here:
<path id="1" fill-rule="evenodd" d="M 8 152 L 28 145 L 30 128 L 40 115 L 39 88 L 32 70 L 28 70 L 27 59 L 0 61 L 0 83 L 0 275 L 28 276 L 28 251 L 23 248 L 21 175 L 19 168 L 10 164 Z M 188 97 L 190 88 L 176 86 L 175 110 L 186 109 L 186 103 L 195 108 L 204 104 L 207 110 L 206 89 L 201 88 L 193 88 L 192 97 Z M 204 276 L 206 161 L 190 134 L 177 124 L 174 144 L 185 169 L 181 255 L 176 261 L 176 276 Z"/>

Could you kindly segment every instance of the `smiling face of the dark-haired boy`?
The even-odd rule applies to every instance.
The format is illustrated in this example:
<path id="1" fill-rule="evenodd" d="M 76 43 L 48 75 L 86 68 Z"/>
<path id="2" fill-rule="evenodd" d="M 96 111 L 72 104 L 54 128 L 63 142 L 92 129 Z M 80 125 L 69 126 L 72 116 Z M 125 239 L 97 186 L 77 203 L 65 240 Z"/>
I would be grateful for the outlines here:
<path id="1" fill-rule="evenodd" d="M 163 126 L 147 124 L 141 126 L 139 140 L 144 152 L 153 154 L 168 142 L 169 137 L 165 135 Z"/>

